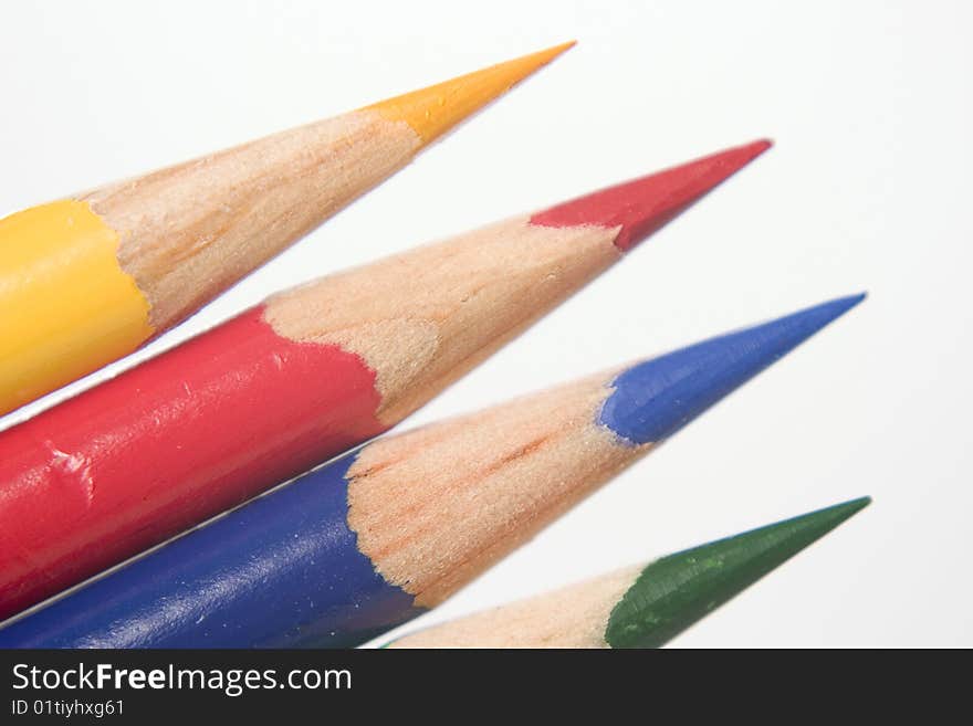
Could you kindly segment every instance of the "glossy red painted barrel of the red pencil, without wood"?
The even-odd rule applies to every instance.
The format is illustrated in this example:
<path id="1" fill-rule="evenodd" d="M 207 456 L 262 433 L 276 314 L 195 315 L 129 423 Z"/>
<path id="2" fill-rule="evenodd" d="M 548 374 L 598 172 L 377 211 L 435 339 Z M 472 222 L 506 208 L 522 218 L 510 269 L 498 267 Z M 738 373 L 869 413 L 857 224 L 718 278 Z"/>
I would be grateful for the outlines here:
<path id="1" fill-rule="evenodd" d="M 262 307 L 0 435 L 0 617 L 383 430 L 375 375 Z"/>

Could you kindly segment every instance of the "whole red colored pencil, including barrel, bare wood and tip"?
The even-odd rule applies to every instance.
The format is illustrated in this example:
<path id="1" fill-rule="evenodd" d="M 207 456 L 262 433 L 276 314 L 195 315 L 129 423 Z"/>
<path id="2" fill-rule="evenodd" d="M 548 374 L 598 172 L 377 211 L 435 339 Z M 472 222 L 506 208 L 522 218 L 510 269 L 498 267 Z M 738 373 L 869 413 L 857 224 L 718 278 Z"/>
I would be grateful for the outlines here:
<path id="1" fill-rule="evenodd" d="M 0 434 L 0 619 L 400 421 L 766 147 L 278 295 Z"/>

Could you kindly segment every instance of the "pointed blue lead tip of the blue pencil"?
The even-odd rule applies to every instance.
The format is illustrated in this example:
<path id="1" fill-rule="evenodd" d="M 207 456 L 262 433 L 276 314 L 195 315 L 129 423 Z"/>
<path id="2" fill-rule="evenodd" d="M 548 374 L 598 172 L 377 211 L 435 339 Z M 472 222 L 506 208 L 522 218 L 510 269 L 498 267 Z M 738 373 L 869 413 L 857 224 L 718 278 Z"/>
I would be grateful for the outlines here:
<path id="1" fill-rule="evenodd" d="M 613 381 L 599 423 L 632 444 L 661 441 L 862 299 L 839 297 L 636 364 Z"/>

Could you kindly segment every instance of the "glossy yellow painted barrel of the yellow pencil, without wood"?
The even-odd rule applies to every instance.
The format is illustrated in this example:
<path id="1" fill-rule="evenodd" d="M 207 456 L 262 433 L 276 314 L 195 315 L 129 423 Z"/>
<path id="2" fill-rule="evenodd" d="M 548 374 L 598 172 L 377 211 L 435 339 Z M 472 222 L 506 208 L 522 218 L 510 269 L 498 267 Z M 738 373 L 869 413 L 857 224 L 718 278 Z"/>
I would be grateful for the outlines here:
<path id="1" fill-rule="evenodd" d="M 117 232 L 86 202 L 0 220 L 0 414 L 151 336 L 148 301 L 117 249 Z"/>

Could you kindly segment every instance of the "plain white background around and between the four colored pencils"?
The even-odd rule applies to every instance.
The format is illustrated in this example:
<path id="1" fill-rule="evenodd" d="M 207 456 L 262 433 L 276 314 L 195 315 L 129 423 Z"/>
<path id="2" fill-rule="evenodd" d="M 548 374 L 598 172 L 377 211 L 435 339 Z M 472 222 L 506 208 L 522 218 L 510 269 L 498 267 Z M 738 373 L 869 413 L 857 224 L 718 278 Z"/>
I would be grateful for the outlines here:
<path id="1" fill-rule="evenodd" d="M 81 385 L 312 276 L 771 136 L 772 151 L 406 425 L 828 297 L 869 299 L 421 622 L 871 494 L 673 645 L 973 645 L 971 8 L 4 2 L 0 213 L 577 38 Z"/>

